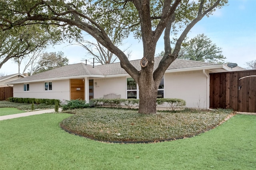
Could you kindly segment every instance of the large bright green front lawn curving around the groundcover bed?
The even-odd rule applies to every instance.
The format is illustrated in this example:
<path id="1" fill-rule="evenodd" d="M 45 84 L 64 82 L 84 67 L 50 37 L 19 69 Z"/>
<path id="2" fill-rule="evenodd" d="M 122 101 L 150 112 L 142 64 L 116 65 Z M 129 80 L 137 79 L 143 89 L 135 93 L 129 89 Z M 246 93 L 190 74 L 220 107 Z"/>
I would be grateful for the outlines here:
<path id="1" fill-rule="evenodd" d="M 196 137 L 113 144 L 66 133 L 71 116 L 46 113 L 0 121 L 0 169 L 256 169 L 256 116 L 236 115 Z"/>

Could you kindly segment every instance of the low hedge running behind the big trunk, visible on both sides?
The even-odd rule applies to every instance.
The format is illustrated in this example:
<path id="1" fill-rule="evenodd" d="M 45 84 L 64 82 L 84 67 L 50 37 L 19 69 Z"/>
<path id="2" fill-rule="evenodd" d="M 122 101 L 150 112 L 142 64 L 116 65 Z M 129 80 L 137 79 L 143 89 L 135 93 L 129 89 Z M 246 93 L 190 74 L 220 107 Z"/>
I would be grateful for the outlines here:
<path id="1" fill-rule="evenodd" d="M 104 99 L 104 98 L 99 98 L 99 99 L 91 99 L 90 102 L 97 107 L 100 105 L 110 105 L 111 107 L 117 107 L 120 106 L 121 104 L 124 104 L 127 106 L 129 109 L 132 109 L 134 107 L 139 106 L 139 99 Z M 171 110 L 175 110 L 178 107 L 184 107 L 186 106 L 186 101 L 182 99 L 176 99 L 176 98 L 157 98 L 156 99 L 156 104 L 157 105 L 162 105 L 166 104 L 166 107 L 170 107 Z"/>

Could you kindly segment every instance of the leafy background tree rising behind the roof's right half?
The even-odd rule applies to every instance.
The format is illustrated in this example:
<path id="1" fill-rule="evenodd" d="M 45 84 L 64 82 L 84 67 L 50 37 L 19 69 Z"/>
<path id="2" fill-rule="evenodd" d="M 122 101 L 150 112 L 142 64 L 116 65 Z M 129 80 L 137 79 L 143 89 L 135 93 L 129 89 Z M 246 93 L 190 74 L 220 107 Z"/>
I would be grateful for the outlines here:
<path id="1" fill-rule="evenodd" d="M 203 61 L 209 63 L 224 63 L 222 49 L 212 43 L 212 40 L 204 34 L 199 34 L 183 43 L 184 47 L 180 49 L 179 59 Z"/>

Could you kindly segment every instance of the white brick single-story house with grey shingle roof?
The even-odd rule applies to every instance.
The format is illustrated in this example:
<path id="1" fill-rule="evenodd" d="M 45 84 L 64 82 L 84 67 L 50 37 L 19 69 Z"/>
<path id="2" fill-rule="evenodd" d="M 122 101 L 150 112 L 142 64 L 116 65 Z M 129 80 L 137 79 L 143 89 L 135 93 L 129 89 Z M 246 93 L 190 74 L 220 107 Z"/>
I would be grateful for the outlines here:
<path id="1" fill-rule="evenodd" d="M 155 67 L 162 57 L 156 57 Z M 140 60 L 130 61 L 138 70 Z M 186 107 L 209 108 L 209 73 L 228 72 L 230 68 L 214 63 L 176 59 L 166 70 L 158 89 L 159 98 L 180 98 Z M 120 98 L 139 98 L 138 85 L 120 66 L 120 63 L 88 65 L 70 64 L 34 74 L 14 84 L 13 96 L 17 98 L 49 98 L 66 100 L 103 98 L 115 93 Z"/>

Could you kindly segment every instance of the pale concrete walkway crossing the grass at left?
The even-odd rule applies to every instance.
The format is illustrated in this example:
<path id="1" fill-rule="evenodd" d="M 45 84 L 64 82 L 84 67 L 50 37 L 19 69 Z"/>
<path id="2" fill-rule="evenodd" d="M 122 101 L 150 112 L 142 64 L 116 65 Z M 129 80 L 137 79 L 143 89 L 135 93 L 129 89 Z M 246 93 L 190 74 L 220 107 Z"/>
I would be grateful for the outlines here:
<path id="1" fill-rule="evenodd" d="M 62 108 L 59 108 L 59 111 L 62 111 Z M 38 111 L 29 111 L 25 113 L 18 113 L 18 114 L 13 114 L 13 115 L 5 115 L 5 116 L 0 116 L 0 121 L 1 120 L 6 120 L 6 119 L 13 119 L 17 117 L 25 117 L 25 116 L 30 116 L 30 115 L 39 115 L 42 113 L 54 113 L 54 109 L 45 109 L 45 110 L 38 110 Z"/>

